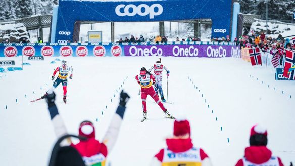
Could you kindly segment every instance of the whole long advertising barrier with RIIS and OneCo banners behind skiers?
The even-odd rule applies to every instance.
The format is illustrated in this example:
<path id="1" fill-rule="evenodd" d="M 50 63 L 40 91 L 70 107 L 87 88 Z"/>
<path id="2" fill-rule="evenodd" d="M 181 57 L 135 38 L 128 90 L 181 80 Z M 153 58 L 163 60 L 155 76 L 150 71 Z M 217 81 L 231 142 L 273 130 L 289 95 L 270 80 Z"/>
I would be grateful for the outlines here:
<path id="1" fill-rule="evenodd" d="M 167 43 L 28 43 L 0 44 L 0 57 L 119 57 L 119 56 L 173 56 L 240 58 L 235 43 L 167 42 Z"/>

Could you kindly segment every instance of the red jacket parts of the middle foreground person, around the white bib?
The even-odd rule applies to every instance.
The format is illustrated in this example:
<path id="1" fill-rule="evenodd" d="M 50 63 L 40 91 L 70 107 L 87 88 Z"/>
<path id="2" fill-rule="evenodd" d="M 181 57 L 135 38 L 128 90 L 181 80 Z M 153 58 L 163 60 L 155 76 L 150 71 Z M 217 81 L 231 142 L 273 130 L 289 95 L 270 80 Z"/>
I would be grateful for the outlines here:
<path id="1" fill-rule="evenodd" d="M 185 151 L 191 149 L 193 146 L 190 138 L 188 138 L 188 139 L 166 139 L 166 143 L 167 143 L 168 149 L 175 152 L 175 153 L 185 152 Z M 161 149 L 160 152 L 155 155 L 155 157 L 159 161 L 162 162 L 163 157 L 164 157 L 164 149 Z M 208 155 L 201 148 L 200 148 L 200 157 L 201 157 L 201 160 L 204 160 L 205 158 L 208 157 Z"/>

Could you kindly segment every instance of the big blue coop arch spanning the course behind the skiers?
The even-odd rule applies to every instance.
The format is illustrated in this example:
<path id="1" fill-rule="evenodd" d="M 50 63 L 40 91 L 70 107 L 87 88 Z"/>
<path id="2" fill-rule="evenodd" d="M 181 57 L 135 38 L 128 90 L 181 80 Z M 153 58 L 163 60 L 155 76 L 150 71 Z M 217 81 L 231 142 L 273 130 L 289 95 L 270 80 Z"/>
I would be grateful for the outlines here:
<path id="1" fill-rule="evenodd" d="M 91 7 L 91 10 L 89 10 Z M 185 12 L 175 12 L 179 7 Z M 77 12 L 83 11 L 83 12 Z M 99 11 L 101 14 L 93 14 Z M 70 15 L 71 17 L 64 17 Z M 232 0 L 222 1 L 59 1 L 56 15 L 55 42 L 73 38 L 78 20 L 109 22 L 160 22 L 208 18 L 212 20 L 212 38 L 230 35 Z"/>

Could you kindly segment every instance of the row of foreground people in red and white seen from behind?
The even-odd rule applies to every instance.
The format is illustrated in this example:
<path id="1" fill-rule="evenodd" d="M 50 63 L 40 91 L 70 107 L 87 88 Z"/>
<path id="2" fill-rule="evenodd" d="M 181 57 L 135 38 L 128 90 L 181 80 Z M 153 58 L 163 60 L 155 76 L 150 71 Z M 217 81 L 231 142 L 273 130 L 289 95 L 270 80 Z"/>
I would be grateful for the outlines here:
<path id="1" fill-rule="evenodd" d="M 74 144 L 67 134 L 67 129 L 55 104 L 55 93 L 48 94 L 45 99 L 53 122 L 54 130 L 61 137 L 54 147 L 50 159 L 50 166 L 85 166 L 105 165 L 109 153 L 112 151 L 119 136 L 121 123 L 126 110 L 126 103 L 130 96 L 121 92 L 120 102 L 103 141 L 95 138 L 95 127 L 90 121 L 83 121 L 79 126 L 80 141 Z M 247 165 L 277 165 L 283 166 L 281 159 L 272 155 L 267 148 L 267 130 L 254 125 L 250 130 L 250 146 L 245 148 L 244 156 L 237 160 L 236 166 Z M 67 139 L 63 146 L 60 143 Z M 130 142 L 131 143 L 131 142 Z M 154 157 L 151 156 L 151 166 L 161 165 L 202 165 L 211 166 L 211 159 L 199 146 L 193 145 L 190 123 L 187 119 L 176 119 L 173 125 L 173 137 L 166 139 L 166 148 L 161 149 Z M 144 144 L 143 144 L 144 145 Z"/>

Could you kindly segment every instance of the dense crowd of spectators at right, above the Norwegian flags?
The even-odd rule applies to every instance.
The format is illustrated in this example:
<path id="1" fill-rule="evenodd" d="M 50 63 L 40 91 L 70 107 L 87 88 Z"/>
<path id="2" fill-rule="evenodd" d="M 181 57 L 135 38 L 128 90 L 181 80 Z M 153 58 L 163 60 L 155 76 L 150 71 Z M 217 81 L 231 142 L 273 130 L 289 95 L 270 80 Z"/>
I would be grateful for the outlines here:
<path id="1" fill-rule="evenodd" d="M 285 39 L 279 34 L 277 38 L 272 38 L 271 36 L 267 37 L 263 32 L 260 35 L 252 32 L 251 35 L 240 36 L 236 45 L 240 48 L 260 48 L 262 52 L 270 53 L 273 57 L 278 56 L 280 65 L 283 65 L 285 49 L 295 50 L 295 37 Z"/>

